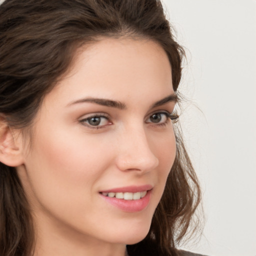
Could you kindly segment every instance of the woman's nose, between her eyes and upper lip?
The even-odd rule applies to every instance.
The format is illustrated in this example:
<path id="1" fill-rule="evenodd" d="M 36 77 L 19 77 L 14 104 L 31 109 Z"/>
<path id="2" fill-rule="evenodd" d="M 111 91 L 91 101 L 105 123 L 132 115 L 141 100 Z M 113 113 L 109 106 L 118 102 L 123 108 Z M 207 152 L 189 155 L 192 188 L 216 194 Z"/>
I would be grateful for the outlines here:
<path id="1" fill-rule="evenodd" d="M 144 129 L 127 129 L 118 139 L 116 165 L 122 171 L 148 172 L 158 166 L 159 160 L 148 143 Z M 151 147 L 150 147 L 151 146 Z"/>

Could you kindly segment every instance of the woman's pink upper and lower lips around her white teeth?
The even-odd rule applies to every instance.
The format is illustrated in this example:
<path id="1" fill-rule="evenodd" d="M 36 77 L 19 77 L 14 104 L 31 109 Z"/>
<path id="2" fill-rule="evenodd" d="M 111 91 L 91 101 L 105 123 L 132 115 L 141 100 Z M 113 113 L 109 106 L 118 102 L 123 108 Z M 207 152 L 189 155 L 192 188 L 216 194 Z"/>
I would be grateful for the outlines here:
<path id="1" fill-rule="evenodd" d="M 102 195 L 100 193 L 100 196 L 108 203 L 112 204 L 113 206 L 126 211 L 126 212 L 138 212 L 146 208 L 146 206 L 149 203 L 150 197 L 151 197 L 151 185 L 143 185 L 143 186 L 126 186 L 126 187 L 119 187 L 114 189 L 105 190 L 102 192 L 140 192 L 140 191 L 147 191 L 146 195 L 140 199 L 137 200 L 125 200 L 125 199 L 118 199 L 115 197 L 108 197 Z"/>

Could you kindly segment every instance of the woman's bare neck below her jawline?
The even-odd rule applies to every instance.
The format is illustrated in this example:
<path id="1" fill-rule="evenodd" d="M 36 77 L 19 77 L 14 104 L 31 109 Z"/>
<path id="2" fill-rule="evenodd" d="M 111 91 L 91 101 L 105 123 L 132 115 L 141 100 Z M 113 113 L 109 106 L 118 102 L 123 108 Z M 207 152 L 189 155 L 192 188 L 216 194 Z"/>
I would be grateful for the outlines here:
<path id="1" fill-rule="evenodd" d="M 42 225 L 40 225 L 40 222 Z M 52 228 L 45 219 L 37 222 L 33 256 L 127 256 L 126 245 L 109 243 L 71 228 Z"/>

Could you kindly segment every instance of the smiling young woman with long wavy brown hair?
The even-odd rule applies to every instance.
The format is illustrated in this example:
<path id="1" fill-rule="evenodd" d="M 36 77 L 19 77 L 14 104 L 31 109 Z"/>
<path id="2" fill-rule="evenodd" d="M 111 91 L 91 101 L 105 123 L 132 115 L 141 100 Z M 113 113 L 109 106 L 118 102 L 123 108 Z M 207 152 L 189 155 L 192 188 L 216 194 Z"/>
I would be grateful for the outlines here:
<path id="1" fill-rule="evenodd" d="M 186 255 L 200 200 L 158 0 L 0 6 L 0 255 Z"/>

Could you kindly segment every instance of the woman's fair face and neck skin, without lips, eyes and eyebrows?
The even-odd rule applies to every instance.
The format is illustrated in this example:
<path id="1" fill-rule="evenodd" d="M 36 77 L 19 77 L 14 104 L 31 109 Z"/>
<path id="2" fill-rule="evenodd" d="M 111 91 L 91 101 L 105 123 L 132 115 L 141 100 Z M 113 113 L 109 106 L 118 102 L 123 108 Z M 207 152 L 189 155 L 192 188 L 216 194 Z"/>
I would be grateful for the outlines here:
<path id="1" fill-rule="evenodd" d="M 175 102 L 152 105 L 173 93 L 167 55 L 153 41 L 103 38 L 77 50 L 45 96 L 31 137 L 20 133 L 17 171 L 32 208 L 34 255 L 123 256 L 125 244 L 145 237 L 176 149 L 171 120 L 150 119 L 171 113 Z M 80 102 L 88 97 L 121 102 L 122 109 Z M 107 116 L 99 127 L 86 119 L 95 113 Z M 138 212 L 99 193 L 144 184 L 153 188 Z"/>

